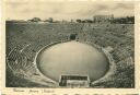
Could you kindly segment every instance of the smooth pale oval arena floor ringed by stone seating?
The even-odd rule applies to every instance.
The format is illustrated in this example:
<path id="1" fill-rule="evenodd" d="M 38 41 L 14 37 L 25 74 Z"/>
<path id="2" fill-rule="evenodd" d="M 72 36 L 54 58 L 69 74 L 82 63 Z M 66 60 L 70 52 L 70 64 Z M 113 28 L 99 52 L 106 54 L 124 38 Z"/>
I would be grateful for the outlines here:
<path id="1" fill-rule="evenodd" d="M 57 82 L 61 74 L 89 75 L 93 82 L 102 78 L 109 67 L 102 51 L 75 40 L 44 48 L 36 64 L 40 72 Z"/>

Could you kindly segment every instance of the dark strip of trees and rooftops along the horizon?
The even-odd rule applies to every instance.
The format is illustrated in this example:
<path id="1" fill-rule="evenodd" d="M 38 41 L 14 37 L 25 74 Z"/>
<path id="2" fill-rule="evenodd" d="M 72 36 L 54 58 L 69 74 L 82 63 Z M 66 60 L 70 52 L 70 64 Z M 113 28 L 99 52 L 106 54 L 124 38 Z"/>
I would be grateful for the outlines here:
<path id="1" fill-rule="evenodd" d="M 24 22 L 24 21 L 7 21 L 7 22 Z M 27 22 L 48 22 L 48 23 L 60 23 L 63 21 L 55 21 L 52 17 L 49 17 L 47 20 L 40 20 L 39 17 L 33 17 L 31 20 L 27 20 Z M 110 23 L 110 24 L 135 24 L 135 16 L 125 16 L 125 17 L 114 17 L 114 19 L 107 19 L 107 20 L 81 20 L 81 19 L 77 19 L 75 21 L 71 20 L 71 21 L 65 21 L 67 23 Z"/>

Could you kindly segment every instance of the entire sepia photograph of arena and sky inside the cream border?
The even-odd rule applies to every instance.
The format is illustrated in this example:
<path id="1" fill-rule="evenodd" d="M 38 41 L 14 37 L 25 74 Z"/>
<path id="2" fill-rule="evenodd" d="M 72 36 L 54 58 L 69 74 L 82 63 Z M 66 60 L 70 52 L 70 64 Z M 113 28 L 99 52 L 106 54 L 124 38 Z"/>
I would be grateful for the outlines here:
<path id="1" fill-rule="evenodd" d="M 4 3 L 5 87 L 136 87 L 133 2 Z"/>

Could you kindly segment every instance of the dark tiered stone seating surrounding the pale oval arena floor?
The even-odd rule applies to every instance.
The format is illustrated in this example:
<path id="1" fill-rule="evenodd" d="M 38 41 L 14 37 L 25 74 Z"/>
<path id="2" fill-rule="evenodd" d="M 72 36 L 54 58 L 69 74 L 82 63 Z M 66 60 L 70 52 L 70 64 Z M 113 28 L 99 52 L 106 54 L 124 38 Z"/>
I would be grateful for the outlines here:
<path id="1" fill-rule="evenodd" d="M 90 87 L 135 87 L 133 24 L 95 23 L 7 23 L 7 86 L 59 87 L 58 82 L 40 73 L 36 66 L 38 52 L 56 44 L 75 41 L 102 50 L 109 69 Z M 93 70 L 94 71 L 94 70 Z"/>

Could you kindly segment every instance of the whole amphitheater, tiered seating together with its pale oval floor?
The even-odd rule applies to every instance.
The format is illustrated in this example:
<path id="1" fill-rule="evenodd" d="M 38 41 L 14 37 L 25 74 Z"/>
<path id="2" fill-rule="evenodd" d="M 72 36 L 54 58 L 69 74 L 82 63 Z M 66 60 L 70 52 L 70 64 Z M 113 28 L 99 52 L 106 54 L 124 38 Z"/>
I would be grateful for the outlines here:
<path id="1" fill-rule="evenodd" d="M 7 23 L 7 86 L 59 87 L 63 74 L 89 76 L 95 88 L 133 86 L 132 24 Z M 71 39 L 71 34 L 77 37 Z"/>

